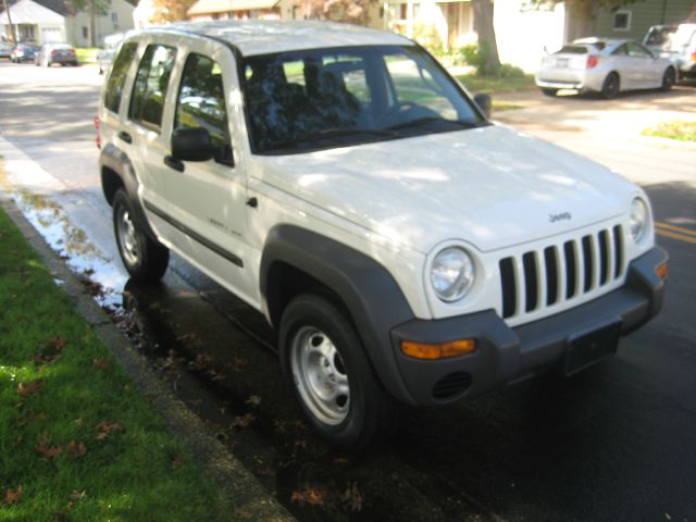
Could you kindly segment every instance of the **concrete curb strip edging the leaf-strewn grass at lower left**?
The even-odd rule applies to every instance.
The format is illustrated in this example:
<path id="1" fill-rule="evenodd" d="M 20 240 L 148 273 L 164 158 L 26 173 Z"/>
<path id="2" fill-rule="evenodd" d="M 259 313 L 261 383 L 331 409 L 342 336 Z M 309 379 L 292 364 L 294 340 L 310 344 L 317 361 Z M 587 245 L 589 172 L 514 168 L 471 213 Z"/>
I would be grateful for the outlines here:
<path id="1" fill-rule="evenodd" d="M 229 497 L 237 508 L 237 514 L 231 513 L 231 518 L 269 522 L 294 521 L 295 518 L 269 495 L 253 475 L 208 433 L 201 420 L 160 382 L 145 359 L 26 220 L 3 188 L 0 188 L 0 206 L 29 241 L 51 275 L 63 281 L 62 288 L 75 303 L 77 312 L 85 318 L 140 391 L 147 396 L 152 408 L 164 419 L 169 430 L 188 447 L 208 476 Z"/>

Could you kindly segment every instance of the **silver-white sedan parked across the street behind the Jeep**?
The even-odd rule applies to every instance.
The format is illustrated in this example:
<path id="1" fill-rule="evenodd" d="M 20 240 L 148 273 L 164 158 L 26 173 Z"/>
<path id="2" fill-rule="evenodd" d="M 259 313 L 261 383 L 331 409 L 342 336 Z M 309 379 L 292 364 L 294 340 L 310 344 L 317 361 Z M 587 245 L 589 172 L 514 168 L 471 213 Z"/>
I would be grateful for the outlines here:
<path id="1" fill-rule="evenodd" d="M 560 89 L 576 89 L 613 98 L 631 89 L 669 90 L 675 77 L 669 60 L 635 41 L 581 38 L 544 57 L 536 85 L 548 96 Z"/>

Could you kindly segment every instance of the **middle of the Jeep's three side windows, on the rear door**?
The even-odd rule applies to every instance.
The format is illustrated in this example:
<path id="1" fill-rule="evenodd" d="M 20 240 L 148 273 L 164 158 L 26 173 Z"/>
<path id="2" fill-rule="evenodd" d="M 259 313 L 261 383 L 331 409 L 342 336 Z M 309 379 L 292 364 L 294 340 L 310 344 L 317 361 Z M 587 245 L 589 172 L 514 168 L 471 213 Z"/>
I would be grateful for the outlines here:
<path id="1" fill-rule="evenodd" d="M 165 46 L 148 46 L 140 60 L 133 85 L 128 117 L 148 128 L 160 130 L 162 107 L 170 83 L 176 49 Z"/>

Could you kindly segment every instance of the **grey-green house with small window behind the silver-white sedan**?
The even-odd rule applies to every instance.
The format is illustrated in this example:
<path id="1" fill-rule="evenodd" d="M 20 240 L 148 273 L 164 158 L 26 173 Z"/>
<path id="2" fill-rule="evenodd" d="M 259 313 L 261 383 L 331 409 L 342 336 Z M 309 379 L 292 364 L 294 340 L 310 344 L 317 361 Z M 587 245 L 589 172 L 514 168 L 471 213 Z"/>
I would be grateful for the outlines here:
<path id="1" fill-rule="evenodd" d="M 643 40 L 650 26 L 686 22 L 696 12 L 694 0 L 636 0 L 622 8 L 604 8 L 591 21 L 573 17 L 569 10 L 568 39 L 583 36 Z"/>

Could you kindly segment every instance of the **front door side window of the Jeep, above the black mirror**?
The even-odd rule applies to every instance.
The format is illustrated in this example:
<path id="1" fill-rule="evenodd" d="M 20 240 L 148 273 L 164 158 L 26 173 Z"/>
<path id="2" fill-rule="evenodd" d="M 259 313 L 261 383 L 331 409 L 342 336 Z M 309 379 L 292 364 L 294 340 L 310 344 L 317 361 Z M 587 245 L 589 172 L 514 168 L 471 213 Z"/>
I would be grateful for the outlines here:
<path id="1" fill-rule="evenodd" d="M 190 54 L 186 60 L 174 127 L 208 129 L 216 148 L 215 161 L 233 164 L 222 72 L 211 59 Z"/>

